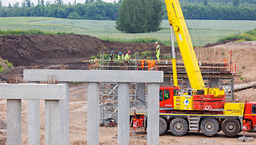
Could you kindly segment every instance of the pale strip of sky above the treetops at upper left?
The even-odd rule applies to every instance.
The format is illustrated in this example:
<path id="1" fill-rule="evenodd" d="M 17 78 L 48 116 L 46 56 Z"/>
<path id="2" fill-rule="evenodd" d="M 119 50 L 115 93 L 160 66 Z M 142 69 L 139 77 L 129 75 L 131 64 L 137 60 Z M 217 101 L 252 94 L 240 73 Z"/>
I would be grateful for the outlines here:
<path id="1" fill-rule="evenodd" d="M 44 2 L 51 2 L 54 3 L 54 0 L 44 0 Z M 103 0 L 105 2 L 114 2 L 115 0 Z M 8 6 L 9 3 L 11 3 L 11 5 L 13 5 L 15 2 L 18 2 L 19 5 L 21 6 L 21 3 L 23 2 L 23 0 L 2 0 L 3 6 Z M 30 0 L 30 2 L 33 2 L 34 5 L 38 4 L 38 0 Z M 74 0 L 63 0 L 63 2 L 65 4 L 68 4 L 69 2 L 74 3 Z M 79 3 L 84 3 L 85 0 L 76 0 L 76 2 Z M 118 2 L 118 0 L 116 0 L 116 2 Z"/>

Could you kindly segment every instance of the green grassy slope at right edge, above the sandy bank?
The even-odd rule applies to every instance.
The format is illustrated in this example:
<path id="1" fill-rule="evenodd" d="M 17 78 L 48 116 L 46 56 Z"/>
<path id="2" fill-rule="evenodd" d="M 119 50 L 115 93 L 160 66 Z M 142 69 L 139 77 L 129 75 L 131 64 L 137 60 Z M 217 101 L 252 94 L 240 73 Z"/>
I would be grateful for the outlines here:
<path id="1" fill-rule="evenodd" d="M 223 42 L 225 40 L 256 41 L 256 28 L 254 28 L 254 30 L 249 30 L 247 32 L 230 35 L 228 37 L 223 37 L 219 39 L 218 42 Z"/>

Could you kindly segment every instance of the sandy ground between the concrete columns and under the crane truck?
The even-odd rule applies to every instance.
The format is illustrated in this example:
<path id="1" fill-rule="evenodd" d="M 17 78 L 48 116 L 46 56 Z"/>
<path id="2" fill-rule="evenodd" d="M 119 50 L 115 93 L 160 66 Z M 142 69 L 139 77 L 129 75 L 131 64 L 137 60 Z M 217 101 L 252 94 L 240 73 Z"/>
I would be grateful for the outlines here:
<path id="1" fill-rule="evenodd" d="M 76 86 L 70 87 L 70 103 L 69 103 L 69 144 L 72 145 L 85 145 L 87 137 L 87 85 L 81 83 Z M 254 99 L 255 101 L 255 99 Z M 0 118 L 6 120 L 6 100 L 0 100 Z M 40 144 L 44 144 L 44 101 L 40 102 L 41 110 L 41 141 Z M 23 112 L 22 112 L 22 144 L 28 144 L 28 101 L 23 101 Z M 132 133 L 132 128 L 131 128 Z M 136 133 L 139 136 L 146 137 L 146 132 L 142 129 L 137 129 Z M 241 143 L 238 142 L 238 137 L 242 136 L 243 133 L 239 133 L 237 137 L 228 138 L 222 132 L 218 133 L 214 137 L 205 137 L 202 133 L 189 132 L 183 137 L 175 137 L 172 133 L 167 132 L 160 136 L 159 143 L 161 145 L 255 145 L 256 144 L 256 133 L 246 133 L 248 137 L 255 138 L 253 142 Z M 3 133 L 1 137 L 5 136 Z M 115 138 L 117 135 L 117 128 L 105 128 L 100 127 L 100 144 L 101 145 L 112 145 L 117 143 Z M 132 136 L 132 135 L 131 135 Z M 142 138 L 131 138 L 130 144 L 134 145 L 146 145 L 146 139 Z"/>

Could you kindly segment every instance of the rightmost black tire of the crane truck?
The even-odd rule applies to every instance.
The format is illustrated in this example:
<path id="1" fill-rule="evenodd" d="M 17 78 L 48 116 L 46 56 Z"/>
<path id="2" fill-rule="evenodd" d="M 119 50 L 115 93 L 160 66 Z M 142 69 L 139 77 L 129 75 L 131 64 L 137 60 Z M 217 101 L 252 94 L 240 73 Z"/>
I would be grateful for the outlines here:
<path id="1" fill-rule="evenodd" d="M 225 119 L 223 122 L 223 133 L 225 133 L 228 137 L 234 137 L 238 133 L 240 133 L 240 123 L 237 119 Z"/>

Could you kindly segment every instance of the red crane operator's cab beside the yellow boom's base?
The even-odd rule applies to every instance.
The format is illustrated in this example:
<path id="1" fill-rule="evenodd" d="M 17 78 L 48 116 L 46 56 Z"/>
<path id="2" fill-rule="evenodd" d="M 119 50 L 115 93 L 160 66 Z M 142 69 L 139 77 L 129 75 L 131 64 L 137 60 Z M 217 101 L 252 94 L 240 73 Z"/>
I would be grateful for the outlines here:
<path id="1" fill-rule="evenodd" d="M 159 107 L 174 107 L 173 96 L 178 95 L 179 87 L 165 86 L 160 87 Z"/>

